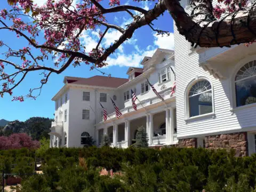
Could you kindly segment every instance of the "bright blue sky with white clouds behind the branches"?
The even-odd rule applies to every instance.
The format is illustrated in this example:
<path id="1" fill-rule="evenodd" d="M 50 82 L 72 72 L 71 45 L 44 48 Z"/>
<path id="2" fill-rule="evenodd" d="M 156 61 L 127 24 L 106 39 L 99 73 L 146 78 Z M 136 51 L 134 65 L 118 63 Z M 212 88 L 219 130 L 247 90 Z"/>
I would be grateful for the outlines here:
<path id="1" fill-rule="evenodd" d="M 34 0 L 37 4 L 41 5 L 46 0 Z M 79 0 L 76 0 L 79 1 Z M 104 0 L 104 4 L 108 1 Z M 135 3 L 133 1 L 122 1 L 121 4 L 132 4 L 139 5 L 145 9 L 151 9 L 156 2 L 141 2 Z M 7 0 L 1 1 L 0 10 L 8 9 Z M 114 23 L 116 25 L 121 25 L 125 28 L 127 23 L 130 23 L 131 17 L 127 13 L 115 13 L 107 15 L 107 21 L 109 23 Z M 101 71 L 111 74 L 112 77 L 123 77 L 127 78 L 126 71 L 129 67 L 141 67 L 140 61 L 145 56 L 151 56 L 157 47 L 164 49 L 173 49 L 173 20 L 169 13 L 165 14 L 155 20 L 154 27 L 158 27 L 161 30 L 168 30 L 171 32 L 170 36 L 156 35 L 149 26 L 144 26 L 137 31 L 135 31 L 133 37 L 129 41 L 125 42 L 118 50 L 110 55 L 108 58 L 108 66 L 102 68 Z M 113 43 L 119 37 L 119 32 L 115 30 L 110 30 L 106 34 L 106 38 L 103 39 L 102 45 L 107 47 Z M 93 47 L 97 45 L 98 35 L 95 31 L 86 31 L 83 33 L 83 41 L 86 46 L 86 51 L 90 51 Z M 0 40 L 4 41 L 12 47 L 19 47 L 21 49 L 26 46 L 26 42 L 22 39 L 15 37 L 15 34 L 11 34 L 9 31 L 0 31 Z M 43 39 L 41 39 L 43 40 Z M 0 50 L 0 53 L 2 51 Z M 34 52 L 36 53 L 36 52 Z M 4 58 L 0 55 L 0 58 Z M 20 60 L 17 60 L 20 62 Z M 47 61 L 48 65 L 52 65 L 52 61 Z M 69 66 L 62 74 L 56 75 L 52 74 L 49 78 L 49 82 L 44 85 L 41 95 L 36 100 L 26 99 L 24 102 L 11 101 L 12 97 L 9 95 L 4 95 L 4 98 L 0 97 L 0 119 L 4 118 L 9 121 L 18 119 L 20 121 L 25 121 L 29 117 L 49 117 L 53 118 L 54 113 L 54 102 L 51 98 L 57 93 L 63 86 L 63 78 L 65 76 L 76 76 L 76 77 L 91 77 L 94 75 L 101 75 L 96 70 L 89 70 L 89 66 L 81 65 L 80 67 L 74 68 Z M 25 81 L 23 81 L 16 90 L 13 91 L 13 95 L 24 95 L 28 93 L 30 88 L 35 88 L 39 86 L 40 76 L 38 73 L 29 74 Z M 1 83 L 1 82 L 0 82 Z"/>

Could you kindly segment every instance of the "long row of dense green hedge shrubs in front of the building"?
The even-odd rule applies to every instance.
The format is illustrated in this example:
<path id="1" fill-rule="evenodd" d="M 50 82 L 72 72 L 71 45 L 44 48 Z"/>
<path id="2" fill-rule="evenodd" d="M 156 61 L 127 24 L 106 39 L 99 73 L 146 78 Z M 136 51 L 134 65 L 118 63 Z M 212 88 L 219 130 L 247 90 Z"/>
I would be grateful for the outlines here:
<path id="1" fill-rule="evenodd" d="M 256 191 L 256 155 L 194 148 L 51 148 L 22 191 Z M 84 163 L 82 160 L 84 160 Z M 99 167 L 123 172 L 100 176 Z"/>

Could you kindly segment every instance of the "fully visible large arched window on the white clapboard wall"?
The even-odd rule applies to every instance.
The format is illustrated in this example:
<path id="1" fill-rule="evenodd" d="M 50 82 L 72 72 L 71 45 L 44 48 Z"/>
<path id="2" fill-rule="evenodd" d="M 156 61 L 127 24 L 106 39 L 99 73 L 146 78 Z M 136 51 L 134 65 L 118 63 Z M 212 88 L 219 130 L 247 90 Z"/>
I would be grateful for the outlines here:
<path id="1" fill-rule="evenodd" d="M 212 86 L 205 79 L 196 82 L 188 93 L 189 117 L 212 113 Z"/>

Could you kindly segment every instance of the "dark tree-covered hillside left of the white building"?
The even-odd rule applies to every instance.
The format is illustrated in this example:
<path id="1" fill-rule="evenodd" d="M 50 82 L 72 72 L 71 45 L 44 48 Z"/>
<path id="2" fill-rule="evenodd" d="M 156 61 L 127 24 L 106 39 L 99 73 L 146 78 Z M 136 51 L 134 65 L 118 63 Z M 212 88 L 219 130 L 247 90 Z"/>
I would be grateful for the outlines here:
<path id="1" fill-rule="evenodd" d="M 51 122 L 53 119 L 44 117 L 31 117 L 25 122 L 18 120 L 9 122 L 5 126 L 0 126 L 0 135 L 9 136 L 12 133 L 27 133 L 33 140 L 49 138 Z"/>

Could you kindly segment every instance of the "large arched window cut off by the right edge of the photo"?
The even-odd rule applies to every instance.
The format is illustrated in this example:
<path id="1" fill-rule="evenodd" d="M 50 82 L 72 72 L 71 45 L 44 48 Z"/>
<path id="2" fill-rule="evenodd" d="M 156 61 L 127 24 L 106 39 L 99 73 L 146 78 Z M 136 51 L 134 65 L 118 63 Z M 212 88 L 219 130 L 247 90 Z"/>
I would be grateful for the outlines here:
<path id="1" fill-rule="evenodd" d="M 256 60 L 246 63 L 235 76 L 236 106 L 256 103 Z"/>

